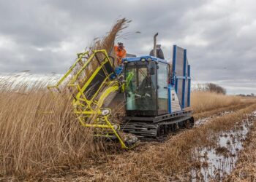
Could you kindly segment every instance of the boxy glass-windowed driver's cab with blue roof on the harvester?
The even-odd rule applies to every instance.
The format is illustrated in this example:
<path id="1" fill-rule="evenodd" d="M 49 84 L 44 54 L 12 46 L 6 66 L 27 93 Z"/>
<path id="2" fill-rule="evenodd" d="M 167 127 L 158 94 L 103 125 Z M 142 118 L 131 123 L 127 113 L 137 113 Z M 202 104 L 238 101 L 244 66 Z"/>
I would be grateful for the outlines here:
<path id="1" fill-rule="evenodd" d="M 170 66 L 153 56 L 124 58 L 127 116 L 159 116 L 168 113 Z"/>

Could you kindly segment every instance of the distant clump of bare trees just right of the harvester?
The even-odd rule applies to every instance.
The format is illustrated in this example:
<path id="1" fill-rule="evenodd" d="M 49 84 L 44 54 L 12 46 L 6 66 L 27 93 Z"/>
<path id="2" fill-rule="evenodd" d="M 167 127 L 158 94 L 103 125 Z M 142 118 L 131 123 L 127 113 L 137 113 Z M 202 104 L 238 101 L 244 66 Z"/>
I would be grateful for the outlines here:
<path id="1" fill-rule="evenodd" d="M 226 95 L 227 93 L 227 90 L 224 87 L 221 87 L 218 84 L 213 84 L 213 83 L 197 84 L 194 90 L 203 91 L 203 92 L 215 92 L 223 95 Z"/>

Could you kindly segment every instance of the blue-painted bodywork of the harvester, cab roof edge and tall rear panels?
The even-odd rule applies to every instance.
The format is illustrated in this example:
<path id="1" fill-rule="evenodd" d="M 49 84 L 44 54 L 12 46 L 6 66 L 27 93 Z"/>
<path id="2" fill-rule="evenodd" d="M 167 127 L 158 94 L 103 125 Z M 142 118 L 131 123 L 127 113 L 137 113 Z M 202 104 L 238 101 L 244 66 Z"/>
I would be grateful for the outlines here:
<path id="1" fill-rule="evenodd" d="M 181 111 L 184 108 L 190 106 L 190 90 L 191 90 L 191 78 L 190 78 L 190 66 L 187 60 L 187 50 L 178 47 L 176 45 L 173 46 L 173 60 L 172 63 L 168 60 L 162 60 L 153 56 L 140 56 L 136 58 L 124 58 L 123 63 L 132 63 L 132 62 L 155 62 L 156 65 L 159 63 L 165 63 L 169 65 L 169 74 L 168 74 L 168 84 L 167 84 L 167 94 L 168 94 L 168 113 L 177 112 L 173 106 L 173 100 L 178 98 L 178 104 L 181 108 Z M 159 67 L 157 66 L 156 69 Z M 116 68 L 116 72 L 120 74 L 120 71 L 123 71 L 123 67 Z M 157 71 L 158 73 L 158 71 Z M 159 73 L 161 74 L 161 73 Z M 159 76 L 159 75 L 158 75 Z M 157 89 L 159 88 L 160 83 L 157 83 Z M 173 91 L 172 91 L 173 90 Z M 175 91 L 175 93 L 174 93 Z M 176 97 L 176 98 L 175 98 Z M 177 107 L 177 106 L 176 106 Z"/>

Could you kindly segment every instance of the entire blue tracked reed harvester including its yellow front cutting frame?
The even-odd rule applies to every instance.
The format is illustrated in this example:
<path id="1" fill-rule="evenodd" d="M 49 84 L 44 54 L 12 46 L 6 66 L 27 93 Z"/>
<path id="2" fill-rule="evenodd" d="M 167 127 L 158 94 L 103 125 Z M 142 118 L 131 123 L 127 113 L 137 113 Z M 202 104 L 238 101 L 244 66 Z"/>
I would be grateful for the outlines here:
<path id="1" fill-rule="evenodd" d="M 157 34 L 154 56 L 124 58 L 118 68 L 105 50 L 80 53 L 69 71 L 48 89 L 68 88 L 80 124 L 91 127 L 97 137 L 119 141 L 124 149 L 134 147 L 136 140 L 121 137 L 120 132 L 161 140 L 180 127 L 192 127 L 187 50 L 174 45 L 170 64 L 157 58 L 156 38 Z M 109 98 L 112 103 L 125 103 L 121 124 L 110 121 Z"/>

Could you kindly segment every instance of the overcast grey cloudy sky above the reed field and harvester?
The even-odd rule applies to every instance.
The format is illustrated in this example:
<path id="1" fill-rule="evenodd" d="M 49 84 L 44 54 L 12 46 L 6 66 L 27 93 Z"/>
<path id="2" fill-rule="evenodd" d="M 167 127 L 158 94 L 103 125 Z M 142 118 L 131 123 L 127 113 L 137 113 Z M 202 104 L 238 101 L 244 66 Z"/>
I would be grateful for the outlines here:
<path id="1" fill-rule="evenodd" d="M 228 93 L 256 93 L 256 1 L 0 0 L 0 71 L 63 74 L 91 41 L 121 17 L 132 20 L 118 41 L 147 55 L 159 32 L 165 58 L 187 48 L 192 78 Z"/>

